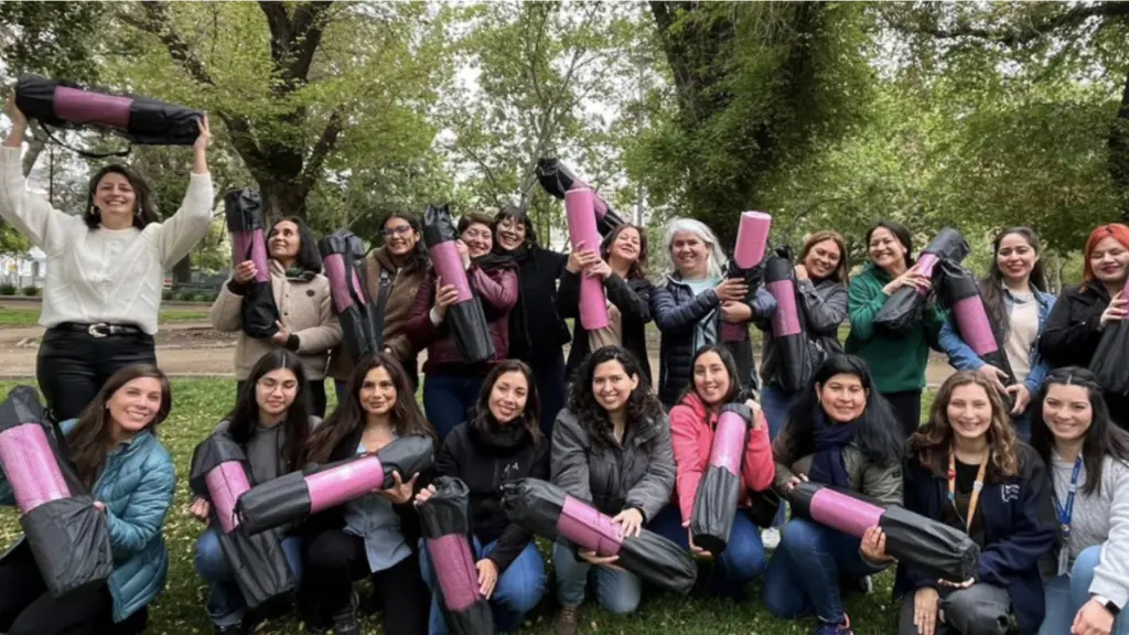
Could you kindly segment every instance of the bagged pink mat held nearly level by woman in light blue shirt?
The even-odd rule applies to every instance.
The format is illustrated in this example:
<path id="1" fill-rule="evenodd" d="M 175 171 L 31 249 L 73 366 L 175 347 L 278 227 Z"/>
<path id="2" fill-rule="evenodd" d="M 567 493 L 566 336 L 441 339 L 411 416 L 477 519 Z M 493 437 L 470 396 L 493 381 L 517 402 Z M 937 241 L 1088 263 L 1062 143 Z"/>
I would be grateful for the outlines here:
<path id="1" fill-rule="evenodd" d="M 255 534 L 301 522 L 310 514 L 387 489 L 401 478 L 426 471 L 435 463 L 435 445 L 425 436 L 400 437 L 375 454 L 364 454 L 326 466 L 310 466 L 252 487 L 239 497 L 236 514 L 243 531 Z"/>

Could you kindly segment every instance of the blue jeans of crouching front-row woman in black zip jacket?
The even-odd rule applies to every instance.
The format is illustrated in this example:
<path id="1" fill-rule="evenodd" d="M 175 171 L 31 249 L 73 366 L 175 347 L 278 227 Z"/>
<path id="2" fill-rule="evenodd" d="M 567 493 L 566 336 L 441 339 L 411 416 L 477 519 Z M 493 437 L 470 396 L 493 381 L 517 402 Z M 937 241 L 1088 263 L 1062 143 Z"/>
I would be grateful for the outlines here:
<path id="1" fill-rule="evenodd" d="M 484 558 L 493 551 L 497 541 L 489 542 L 484 547 L 479 539 L 474 539 L 474 557 Z M 420 571 L 423 574 L 423 582 L 431 589 L 431 617 L 428 619 L 428 633 L 430 635 L 447 635 L 447 623 L 443 618 L 443 610 L 439 608 L 439 590 L 436 588 L 437 581 L 431 571 L 431 559 L 420 541 Z M 493 612 L 495 628 L 498 630 L 517 630 L 525 619 L 525 615 L 537 606 L 541 595 L 545 592 L 545 563 L 537 553 L 537 546 L 532 541 L 522 549 L 522 553 L 514 558 L 514 562 L 506 567 L 498 576 L 495 584 L 493 595 L 490 597 L 490 609 Z"/>

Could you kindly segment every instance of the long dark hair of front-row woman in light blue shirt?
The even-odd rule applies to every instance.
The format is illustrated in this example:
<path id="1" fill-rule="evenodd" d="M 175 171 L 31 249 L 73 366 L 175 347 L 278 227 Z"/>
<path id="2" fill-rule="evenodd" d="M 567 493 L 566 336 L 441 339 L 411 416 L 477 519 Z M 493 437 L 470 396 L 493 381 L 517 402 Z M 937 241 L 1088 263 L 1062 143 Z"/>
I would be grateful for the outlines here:
<path id="1" fill-rule="evenodd" d="M 399 436 L 427 436 L 435 438 L 435 429 L 423 417 L 415 403 L 415 391 L 408 381 L 408 373 L 394 355 L 377 353 L 360 360 L 349 375 L 345 392 L 348 398 L 338 403 L 333 412 L 309 435 L 303 464 L 324 463 L 344 440 L 364 429 L 368 414 L 360 405 L 360 389 L 365 376 L 373 368 L 384 368 L 396 386 L 396 403 L 392 407 L 391 419 Z"/>

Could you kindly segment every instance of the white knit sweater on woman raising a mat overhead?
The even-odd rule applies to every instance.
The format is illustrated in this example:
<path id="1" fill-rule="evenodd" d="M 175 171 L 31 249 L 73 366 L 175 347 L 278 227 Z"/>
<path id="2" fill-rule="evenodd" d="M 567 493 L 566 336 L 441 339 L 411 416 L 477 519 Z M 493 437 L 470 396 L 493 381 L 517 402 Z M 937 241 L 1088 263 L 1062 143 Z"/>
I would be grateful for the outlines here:
<path id="1" fill-rule="evenodd" d="M 26 190 L 19 148 L 0 148 L 0 217 L 47 254 L 40 324 L 135 324 L 157 332 L 165 271 L 187 255 L 211 223 L 211 174 L 193 174 L 184 202 L 145 229 L 90 229 L 80 216 Z"/>

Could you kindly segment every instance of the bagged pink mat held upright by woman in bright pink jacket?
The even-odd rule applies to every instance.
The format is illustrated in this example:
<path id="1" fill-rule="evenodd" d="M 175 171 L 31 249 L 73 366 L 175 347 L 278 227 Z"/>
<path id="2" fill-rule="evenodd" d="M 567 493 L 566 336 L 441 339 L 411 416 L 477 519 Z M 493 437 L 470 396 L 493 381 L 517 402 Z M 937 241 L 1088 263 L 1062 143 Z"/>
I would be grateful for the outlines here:
<path id="1" fill-rule="evenodd" d="M 737 514 L 737 502 L 744 484 L 741 466 L 749 445 L 749 428 L 753 414 L 744 403 L 721 407 L 709 451 L 709 466 L 698 482 L 690 532 L 694 545 L 715 556 L 725 551 Z"/>

